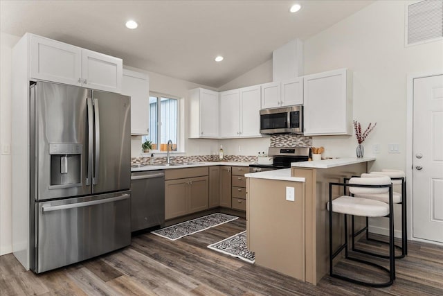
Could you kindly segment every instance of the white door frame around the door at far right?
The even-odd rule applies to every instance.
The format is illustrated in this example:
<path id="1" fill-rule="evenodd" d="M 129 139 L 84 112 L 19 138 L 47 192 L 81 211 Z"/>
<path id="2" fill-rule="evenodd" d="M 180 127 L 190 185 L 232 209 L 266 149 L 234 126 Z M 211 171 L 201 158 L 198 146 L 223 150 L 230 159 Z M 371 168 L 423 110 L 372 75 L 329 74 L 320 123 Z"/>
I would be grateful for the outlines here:
<path id="1" fill-rule="evenodd" d="M 433 71 L 424 73 L 408 73 L 407 74 L 407 92 L 406 92 L 406 202 L 407 221 L 408 221 L 408 240 L 420 241 L 424 243 L 433 243 L 435 245 L 443 245 L 435 241 L 427 241 L 422 238 L 415 238 L 413 236 L 413 128 L 414 128 L 414 79 L 425 78 L 429 76 L 443 75 L 443 71 Z"/>

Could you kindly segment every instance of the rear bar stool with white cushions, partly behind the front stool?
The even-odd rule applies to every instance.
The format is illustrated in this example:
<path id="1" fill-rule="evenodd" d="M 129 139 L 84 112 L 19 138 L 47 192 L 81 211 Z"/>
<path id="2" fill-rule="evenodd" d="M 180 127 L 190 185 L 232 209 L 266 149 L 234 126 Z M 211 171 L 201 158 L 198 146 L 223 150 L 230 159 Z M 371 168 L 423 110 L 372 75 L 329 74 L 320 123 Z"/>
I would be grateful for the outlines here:
<path id="1" fill-rule="evenodd" d="M 401 204 L 401 247 L 398 245 L 395 245 L 399 250 L 401 250 L 401 255 L 395 256 L 396 259 L 404 258 L 408 254 L 408 233 L 407 233 L 407 216 L 406 216 L 406 175 L 404 171 L 399 170 L 389 170 L 389 169 L 383 169 L 379 172 L 371 172 L 371 173 L 364 173 L 361 175 L 361 177 L 374 177 L 374 176 L 381 176 L 386 175 L 390 177 L 392 181 L 392 185 L 401 185 L 401 193 L 393 192 L 393 202 L 395 204 Z M 356 195 L 358 198 L 369 198 L 372 200 L 379 200 L 381 202 L 389 203 L 389 197 L 387 193 L 384 194 L 359 194 Z M 368 227 L 368 221 L 369 219 L 366 218 L 366 225 L 362 229 L 360 229 L 358 232 L 354 232 L 354 217 L 352 217 L 352 233 L 354 234 L 352 236 L 352 250 L 356 252 L 361 253 L 367 253 L 366 251 L 359 250 L 355 247 L 354 244 L 354 237 L 361 234 L 361 232 L 366 232 L 366 239 L 368 241 L 377 241 L 379 243 L 386 243 L 386 241 L 380 241 L 375 238 L 369 237 L 369 227 Z M 373 254 L 373 253 L 372 253 Z M 374 256 L 379 256 L 381 258 L 387 258 L 387 256 L 383 255 L 377 255 L 373 254 Z"/>

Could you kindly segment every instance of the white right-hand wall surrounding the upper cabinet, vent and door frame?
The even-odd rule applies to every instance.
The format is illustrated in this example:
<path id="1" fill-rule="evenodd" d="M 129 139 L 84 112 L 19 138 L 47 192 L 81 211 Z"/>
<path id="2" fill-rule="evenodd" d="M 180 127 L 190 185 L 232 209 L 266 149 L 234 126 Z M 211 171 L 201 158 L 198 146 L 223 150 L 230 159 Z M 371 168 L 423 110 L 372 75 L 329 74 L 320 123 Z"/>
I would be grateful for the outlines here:
<path id="1" fill-rule="evenodd" d="M 406 169 L 406 75 L 443 71 L 443 42 L 404 46 L 407 1 L 375 1 L 347 19 L 305 40 L 305 73 L 347 67 L 354 72 L 353 117 L 362 125 L 377 121 L 363 142 L 372 169 Z M 381 153 L 373 154 L 379 144 Z M 388 153 L 398 143 L 399 154 Z M 325 155 L 355 155 L 352 137 L 313 137 Z"/>

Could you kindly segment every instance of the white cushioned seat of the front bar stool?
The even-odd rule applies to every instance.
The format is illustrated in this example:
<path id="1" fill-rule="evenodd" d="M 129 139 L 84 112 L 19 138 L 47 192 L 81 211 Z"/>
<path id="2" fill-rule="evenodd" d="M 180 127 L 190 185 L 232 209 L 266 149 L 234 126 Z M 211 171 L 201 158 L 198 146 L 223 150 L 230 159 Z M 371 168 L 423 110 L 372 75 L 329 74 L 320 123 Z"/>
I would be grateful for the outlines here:
<path id="1" fill-rule="evenodd" d="M 329 202 L 327 209 L 329 210 Z M 332 200 L 332 211 L 354 216 L 384 217 L 389 214 L 389 205 L 378 200 L 341 195 Z"/>

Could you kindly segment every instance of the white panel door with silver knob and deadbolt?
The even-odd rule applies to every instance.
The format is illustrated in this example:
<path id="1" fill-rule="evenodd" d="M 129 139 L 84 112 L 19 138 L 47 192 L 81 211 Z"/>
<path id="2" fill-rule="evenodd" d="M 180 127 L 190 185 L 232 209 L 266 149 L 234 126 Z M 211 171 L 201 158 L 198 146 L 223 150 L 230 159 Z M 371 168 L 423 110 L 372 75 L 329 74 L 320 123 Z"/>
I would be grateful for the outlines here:
<path id="1" fill-rule="evenodd" d="M 443 75 L 414 79 L 413 236 L 443 243 Z"/>

